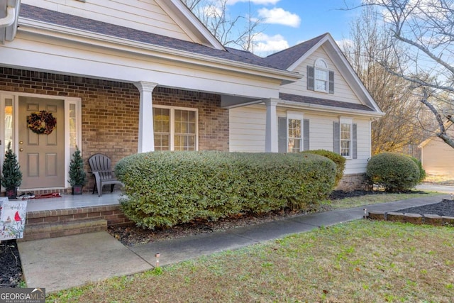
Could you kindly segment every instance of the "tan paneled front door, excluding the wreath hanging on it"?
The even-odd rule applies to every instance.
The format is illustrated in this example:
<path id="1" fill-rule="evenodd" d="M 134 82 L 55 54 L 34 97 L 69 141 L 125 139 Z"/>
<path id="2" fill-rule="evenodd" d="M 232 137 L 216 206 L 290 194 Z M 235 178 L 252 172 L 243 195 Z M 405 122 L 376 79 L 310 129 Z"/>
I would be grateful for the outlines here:
<path id="1" fill-rule="evenodd" d="M 21 190 L 65 187 L 65 101 L 18 97 L 18 160 L 23 175 Z M 51 133 L 28 128 L 28 116 L 52 114 L 57 123 Z"/>

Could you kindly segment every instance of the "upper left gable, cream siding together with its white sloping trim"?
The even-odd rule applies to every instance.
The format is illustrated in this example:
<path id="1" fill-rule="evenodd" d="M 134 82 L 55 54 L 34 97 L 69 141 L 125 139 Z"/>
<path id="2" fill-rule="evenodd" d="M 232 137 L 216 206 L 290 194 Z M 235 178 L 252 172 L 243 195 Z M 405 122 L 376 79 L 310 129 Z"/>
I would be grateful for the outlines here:
<path id="1" fill-rule="evenodd" d="M 224 50 L 180 0 L 22 0 L 22 4 Z"/>

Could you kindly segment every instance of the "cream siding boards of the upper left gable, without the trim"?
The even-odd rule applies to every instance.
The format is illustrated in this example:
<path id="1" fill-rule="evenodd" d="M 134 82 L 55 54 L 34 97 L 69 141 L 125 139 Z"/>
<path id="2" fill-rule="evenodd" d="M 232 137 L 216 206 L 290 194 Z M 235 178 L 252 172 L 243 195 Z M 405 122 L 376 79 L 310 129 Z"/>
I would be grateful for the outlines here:
<path id="1" fill-rule="evenodd" d="M 23 4 L 193 41 L 154 0 L 22 0 Z"/>

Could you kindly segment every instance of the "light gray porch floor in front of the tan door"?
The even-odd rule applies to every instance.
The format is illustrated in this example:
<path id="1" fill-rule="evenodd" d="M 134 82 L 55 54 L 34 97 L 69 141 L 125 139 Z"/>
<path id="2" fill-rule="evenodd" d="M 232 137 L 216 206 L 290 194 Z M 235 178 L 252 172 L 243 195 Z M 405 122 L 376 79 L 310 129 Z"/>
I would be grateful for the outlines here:
<path id="1" fill-rule="evenodd" d="M 28 199 L 27 211 L 47 211 L 55 209 L 75 209 L 88 206 L 105 206 L 119 204 L 120 192 L 106 192 L 101 197 L 98 194 L 62 194 L 61 198 Z"/>

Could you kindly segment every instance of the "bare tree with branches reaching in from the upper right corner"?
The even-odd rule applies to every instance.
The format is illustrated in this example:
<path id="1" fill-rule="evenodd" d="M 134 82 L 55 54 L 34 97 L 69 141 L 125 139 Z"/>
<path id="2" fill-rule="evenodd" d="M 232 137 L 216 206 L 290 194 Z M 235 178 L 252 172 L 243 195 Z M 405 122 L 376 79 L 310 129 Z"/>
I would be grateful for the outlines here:
<path id="1" fill-rule="evenodd" d="M 454 123 L 454 0 L 363 0 L 362 6 L 380 9 L 388 50 L 406 45 L 397 65 L 383 56 L 374 59 L 418 89 L 419 101 L 437 122 L 436 136 L 454 148 L 454 138 L 446 132 L 446 122 Z"/>

